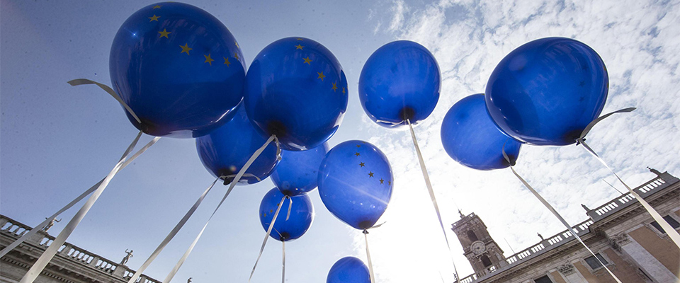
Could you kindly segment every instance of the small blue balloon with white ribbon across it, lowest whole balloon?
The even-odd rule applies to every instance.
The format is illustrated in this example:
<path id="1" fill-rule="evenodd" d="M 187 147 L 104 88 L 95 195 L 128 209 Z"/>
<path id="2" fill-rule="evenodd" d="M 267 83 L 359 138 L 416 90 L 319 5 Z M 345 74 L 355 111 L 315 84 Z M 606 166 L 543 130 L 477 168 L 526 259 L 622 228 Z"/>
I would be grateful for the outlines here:
<path id="1" fill-rule="evenodd" d="M 260 224 L 262 224 L 264 231 L 269 229 L 271 219 L 274 218 L 278 203 L 282 199 L 283 194 L 276 187 L 269 190 L 262 198 L 260 203 Z M 285 220 L 285 216 L 288 214 L 288 207 L 290 206 L 290 200 L 285 200 L 278 212 L 278 216 L 276 216 L 274 228 L 271 234 L 269 234 L 271 238 L 275 238 L 278 241 L 287 242 L 300 238 L 310 229 L 312 220 L 314 220 L 314 207 L 309 196 L 297 195 L 291 197 L 291 199 L 293 200 L 293 206 L 290 209 L 290 218 Z"/>

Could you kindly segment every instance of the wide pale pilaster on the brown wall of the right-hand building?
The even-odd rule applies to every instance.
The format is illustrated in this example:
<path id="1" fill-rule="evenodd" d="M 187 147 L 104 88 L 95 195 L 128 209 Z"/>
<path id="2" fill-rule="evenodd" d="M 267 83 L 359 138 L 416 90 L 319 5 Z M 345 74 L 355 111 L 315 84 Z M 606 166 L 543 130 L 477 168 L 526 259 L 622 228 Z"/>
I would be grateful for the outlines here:
<path id="1" fill-rule="evenodd" d="M 627 254 L 655 282 L 680 282 L 678 277 L 628 234 L 618 234 L 609 238 L 609 241 L 613 248 Z"/>

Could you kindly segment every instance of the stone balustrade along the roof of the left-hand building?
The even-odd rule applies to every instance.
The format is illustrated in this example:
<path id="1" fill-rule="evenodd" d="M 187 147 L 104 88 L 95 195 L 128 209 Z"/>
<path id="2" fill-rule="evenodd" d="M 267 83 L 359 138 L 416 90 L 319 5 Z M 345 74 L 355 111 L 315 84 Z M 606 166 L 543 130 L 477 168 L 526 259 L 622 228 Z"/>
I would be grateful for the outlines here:
<path id="1" fill-rule="evenodd" d="M 2 236 L 8 236 L 11 241 L 20 238 L 25 233 L 28 233 L 30 229 L 33 228 L 0 214 L 0 233 Z M 35 246 L 36 248 L 42 249 L 42 252 L 44 252 L 54 240 L 55 237 L 50 236 L 46 232 L 38 231 L 38 233 L 35 233 L 32 237 L 28 238 L 24 244 Z M 127 282 L 130 277 L 135 274 L 135 270 L 130 270 L 125 265 L 119 265 L 112 260 L 108 260 L 107 258 L 103 258 L 100 255 L 96 255 L 95 253 L 91 253 L 83 248 L 74 246 L 71 243 L 64 243 L 64 245 L 62 245 L 59 250 L 57 250 L 57 255 L 55 256 L 67 259 L 69 262 L 73 262 L 77 265 L 84 265 L 88 268 L 91 268 L 91 270 L 95 270 L 96 272 L 113 276 L 120 282 Z M 161 282 L 146 275 L 141 275 L 140 279 L 137 279 L 137 283 Z"/>

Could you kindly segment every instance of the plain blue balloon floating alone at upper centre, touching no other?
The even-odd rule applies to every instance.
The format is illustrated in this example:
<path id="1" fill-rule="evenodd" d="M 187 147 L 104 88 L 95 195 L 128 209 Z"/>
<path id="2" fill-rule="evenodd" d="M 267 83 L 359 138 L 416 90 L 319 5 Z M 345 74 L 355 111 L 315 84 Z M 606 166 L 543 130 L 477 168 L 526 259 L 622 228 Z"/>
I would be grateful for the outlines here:
<path id="1" fill-rule="evenodd" d="M 387 43 L 368 57 L 359 76 L 359 100 L 370 120 L 397 127 L 424 120 L 439 100 L 441 78 L 432 53 L 416 42 Z"/>

